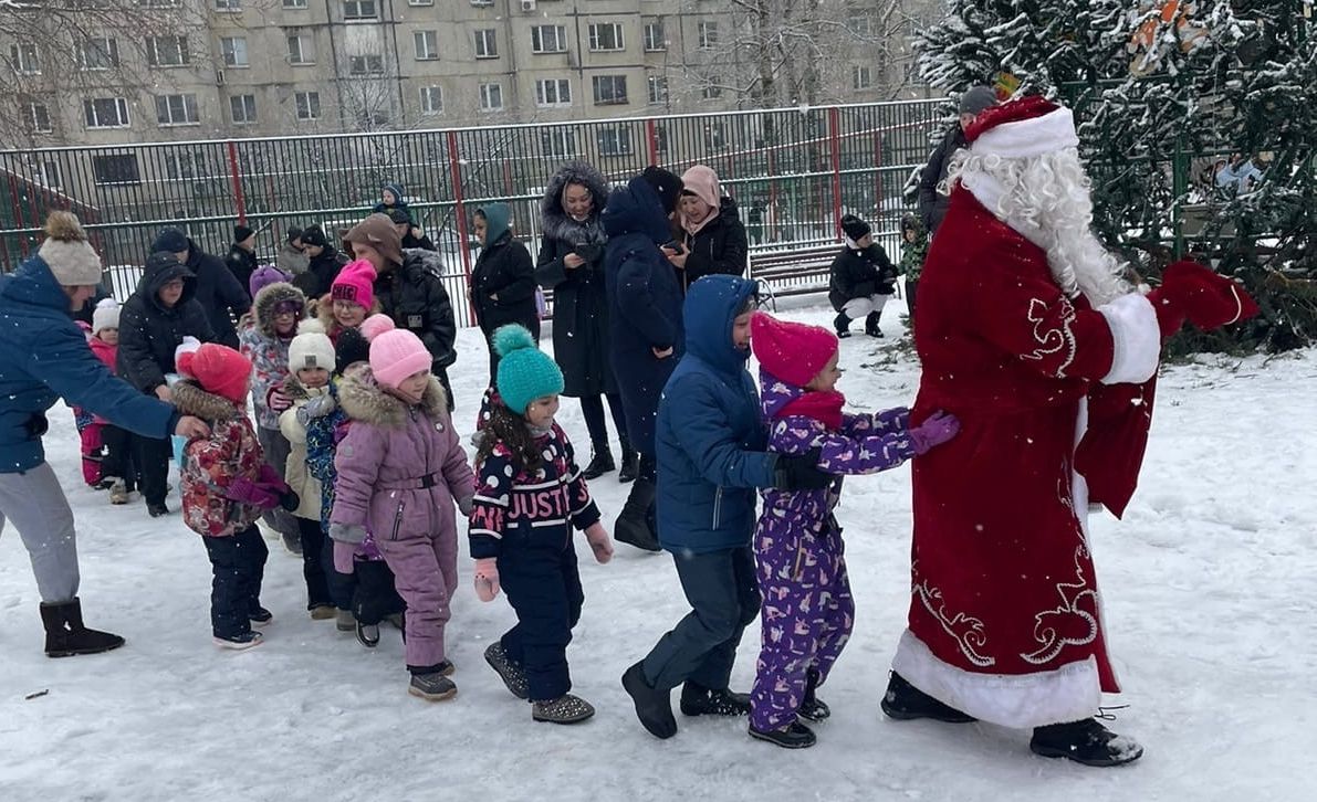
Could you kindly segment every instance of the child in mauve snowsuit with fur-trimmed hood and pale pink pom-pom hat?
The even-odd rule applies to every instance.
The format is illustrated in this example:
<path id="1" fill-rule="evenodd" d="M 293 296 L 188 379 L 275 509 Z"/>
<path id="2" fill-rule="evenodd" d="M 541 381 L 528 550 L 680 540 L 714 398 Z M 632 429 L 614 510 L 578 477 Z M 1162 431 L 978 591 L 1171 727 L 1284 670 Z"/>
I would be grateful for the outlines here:
<path id="1" fill-rule="evenodd" d="M 437 702 L 457 693 L 444 657 L 457 585 L 453 502 L 470 510 L 475 477 L 429 367 L 420 338 L 395 329 L 370 343 L 369 366 L 344 376 L 338 401 L 352 426 L 335 456 L 329 536 L 344 571 L 366 530 L 375 534 L 407 602 L 408 693 Z"/>

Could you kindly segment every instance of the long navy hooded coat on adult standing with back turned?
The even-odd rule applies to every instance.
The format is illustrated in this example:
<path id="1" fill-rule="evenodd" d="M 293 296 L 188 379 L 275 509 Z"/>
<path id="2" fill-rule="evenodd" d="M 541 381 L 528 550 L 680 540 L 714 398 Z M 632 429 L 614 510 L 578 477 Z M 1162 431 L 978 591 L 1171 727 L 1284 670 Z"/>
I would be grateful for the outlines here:
<path id="1" fill-rule="evenodd" d="M 652 455 L 658 396 L 684 350 L 681 285 L 658 250 L 672 233 L 658 193 L 639 176 L 612 191 L 599 220 L 608 234 L 603 256 L 608 358 L 631 446 Z M 655 356 L 653 348 L 669 347 L 672 356 Z"/>

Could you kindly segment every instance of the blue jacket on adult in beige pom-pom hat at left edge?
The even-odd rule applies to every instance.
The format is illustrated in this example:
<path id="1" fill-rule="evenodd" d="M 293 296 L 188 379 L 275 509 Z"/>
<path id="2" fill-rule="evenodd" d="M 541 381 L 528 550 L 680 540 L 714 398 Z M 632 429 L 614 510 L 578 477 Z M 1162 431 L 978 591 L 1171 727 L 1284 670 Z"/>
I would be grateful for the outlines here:
<path id="1" fill-rule="evenodd" d="M 0 473 L 46 460 L 45 413 L 61 397 L 145 436 L 167 438 L 178 425 L 173 406 L 141 394 L 96 359 L 41 256 L 0 276 Z"/>

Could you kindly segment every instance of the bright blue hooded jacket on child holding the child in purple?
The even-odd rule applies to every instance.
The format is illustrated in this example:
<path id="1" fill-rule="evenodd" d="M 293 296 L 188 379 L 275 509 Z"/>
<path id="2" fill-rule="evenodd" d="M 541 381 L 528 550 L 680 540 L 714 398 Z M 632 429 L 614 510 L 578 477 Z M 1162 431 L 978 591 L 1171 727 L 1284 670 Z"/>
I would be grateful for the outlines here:
<path id="1" fill-rule="evenodd" d="M 686 296 L 686 355 L 658 405 L 658 542 L 668 551 L 749 546 L 756 488 L 773 485 L 777 455 L 749 350 L 732 344 L 732 321 L 755 295 L 739 276 L 705 276 Z"/>

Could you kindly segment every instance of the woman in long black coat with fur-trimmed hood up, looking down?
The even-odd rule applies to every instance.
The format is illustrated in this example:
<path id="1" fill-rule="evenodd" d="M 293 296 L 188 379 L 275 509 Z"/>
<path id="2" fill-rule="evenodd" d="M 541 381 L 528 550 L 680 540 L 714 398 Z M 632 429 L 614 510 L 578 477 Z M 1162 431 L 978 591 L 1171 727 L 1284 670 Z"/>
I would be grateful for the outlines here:
<path id="1" fill-rule="evenodd" d="M 585 162 L 569 162 L 540 201 L 544 239 L 535 277 L 553 291 L 553 358 L 562 368 L 564 396 L 581 398 L 590 431 L 591 459 L 582 475 L 595 479 L 616 469 L 608 448 L 603 398 L 622 446 L 619 481 L 636 477 L 636 455 L 627 439 L 618 383 L 608 364 L 608 296 L 603 288 L 603 233 L 599 213 L 608 200 L 603 175 Z"/>

